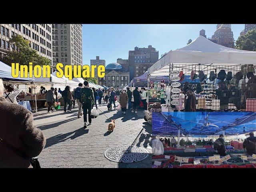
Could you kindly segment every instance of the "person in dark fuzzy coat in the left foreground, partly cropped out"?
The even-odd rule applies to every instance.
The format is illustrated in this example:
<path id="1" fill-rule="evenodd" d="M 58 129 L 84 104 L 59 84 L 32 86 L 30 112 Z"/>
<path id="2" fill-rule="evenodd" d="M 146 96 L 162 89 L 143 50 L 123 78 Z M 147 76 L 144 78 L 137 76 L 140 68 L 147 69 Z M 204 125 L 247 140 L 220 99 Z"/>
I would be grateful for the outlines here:
<path id="1" fill-rule="evenodd" d="M 0 79 L 0 168 L 32 168 L 30 158 L 38 156 L 45 144 L 43 132 L 33 124 L 32 113 L 3 98 Z"/>

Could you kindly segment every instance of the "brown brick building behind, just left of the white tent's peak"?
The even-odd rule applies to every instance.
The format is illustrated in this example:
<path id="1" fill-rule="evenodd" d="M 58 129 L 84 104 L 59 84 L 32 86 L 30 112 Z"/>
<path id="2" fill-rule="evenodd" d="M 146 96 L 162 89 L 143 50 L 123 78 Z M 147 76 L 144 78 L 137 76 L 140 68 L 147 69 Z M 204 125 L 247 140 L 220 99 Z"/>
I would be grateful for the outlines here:
<path id="1" fill-rule="evenodd" d="M 129 51 L 128 66 L 130 71 L 130 79 L 141 76 L 148 68 L 158 61 L 158 51 L 151 45 L 148 48 L 135 47 Z"/>

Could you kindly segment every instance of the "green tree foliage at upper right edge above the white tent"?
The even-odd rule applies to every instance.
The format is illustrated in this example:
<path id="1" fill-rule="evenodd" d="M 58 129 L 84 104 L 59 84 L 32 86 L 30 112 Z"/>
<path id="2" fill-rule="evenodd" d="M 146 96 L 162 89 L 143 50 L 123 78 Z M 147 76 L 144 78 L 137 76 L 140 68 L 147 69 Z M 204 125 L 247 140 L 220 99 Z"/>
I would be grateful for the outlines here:
<path id="1" fill-rule="evenodd" d="M 249 30 L 246 34 L 239 36 L 236 40 L 236 49 L 256 51 L 256 29 Z"/>

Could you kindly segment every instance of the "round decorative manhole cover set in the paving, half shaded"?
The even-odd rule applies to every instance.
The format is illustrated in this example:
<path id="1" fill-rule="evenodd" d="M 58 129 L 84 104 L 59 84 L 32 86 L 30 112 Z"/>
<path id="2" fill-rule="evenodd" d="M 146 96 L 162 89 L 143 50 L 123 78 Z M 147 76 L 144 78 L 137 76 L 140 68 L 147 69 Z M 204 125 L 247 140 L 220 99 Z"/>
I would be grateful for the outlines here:
<path id="1" fill-rule="evenodd" d="M 110 161 L 132 163 L 146 159 L 149 152 L 143 147 L 119 145 L 107 149 L 104 155 Z"/>

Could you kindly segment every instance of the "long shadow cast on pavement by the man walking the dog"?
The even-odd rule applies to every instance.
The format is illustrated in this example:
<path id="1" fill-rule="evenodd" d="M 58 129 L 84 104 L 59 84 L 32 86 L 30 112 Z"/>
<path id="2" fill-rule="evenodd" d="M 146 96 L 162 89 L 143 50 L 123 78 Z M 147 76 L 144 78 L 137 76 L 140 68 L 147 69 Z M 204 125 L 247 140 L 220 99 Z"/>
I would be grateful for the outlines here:
<path id="1" fill-rule="evenodd" d="M 53 137 L 50 137 L 50 138 L 46 139 L 46 145 L 45 145 L 44 148 L 50 147 L 50 146 L 52 146 L 54 144 L 57 144 L 57 143 L 60 143 L 60 142 L 64 142 L 68 139 L 75 139 L 79 136 L 82 136 L 83 134 L 87 134 L 88 132 L 89 132 L 88 129 L 84 130 L 84 127 L 82 127 L 80 129 L 72 131 L 72 132 L 55 135 Z M 72 134 L 74 134 L 74 135 L 70 136 Z"/>

